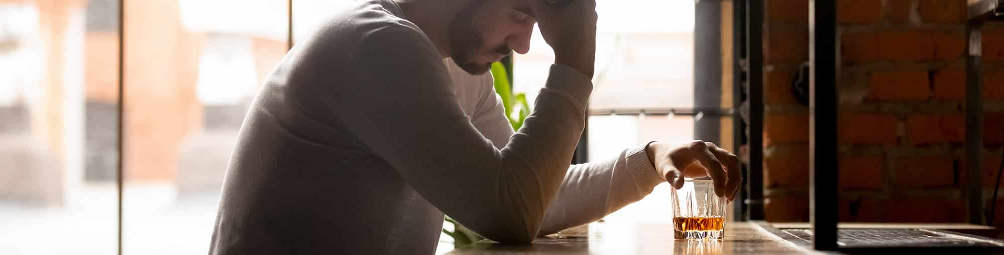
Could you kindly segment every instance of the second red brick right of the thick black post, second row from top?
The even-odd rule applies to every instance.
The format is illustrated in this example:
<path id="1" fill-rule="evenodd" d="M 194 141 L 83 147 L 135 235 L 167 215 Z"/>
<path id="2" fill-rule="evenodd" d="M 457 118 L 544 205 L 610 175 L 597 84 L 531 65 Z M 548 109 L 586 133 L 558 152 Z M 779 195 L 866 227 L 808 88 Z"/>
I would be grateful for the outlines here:
<path id="1" fill-rule="evenodd" d="M 916 62 L 934 58 L 935 45 L 919 30 L 886 31 L 878 34 L 883 59 Z"/>

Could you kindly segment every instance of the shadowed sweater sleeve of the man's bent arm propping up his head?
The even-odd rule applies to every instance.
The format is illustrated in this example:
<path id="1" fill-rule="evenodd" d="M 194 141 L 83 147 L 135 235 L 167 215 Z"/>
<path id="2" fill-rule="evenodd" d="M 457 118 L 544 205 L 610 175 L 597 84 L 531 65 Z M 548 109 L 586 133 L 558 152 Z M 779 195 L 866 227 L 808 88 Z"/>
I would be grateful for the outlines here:
<path id="1" fill-rule="evenodd" d="M 417 28 L 388 26 L 359 47 L 354 75 L 346 75 L 353 80 L 330 86 L 328 110 L 464 226 L 495 241 L 531 241 L 585 125 L 589 78 L 551 66 L 534 113 L 497 149 L 463 112 L 441 57 Z"/>

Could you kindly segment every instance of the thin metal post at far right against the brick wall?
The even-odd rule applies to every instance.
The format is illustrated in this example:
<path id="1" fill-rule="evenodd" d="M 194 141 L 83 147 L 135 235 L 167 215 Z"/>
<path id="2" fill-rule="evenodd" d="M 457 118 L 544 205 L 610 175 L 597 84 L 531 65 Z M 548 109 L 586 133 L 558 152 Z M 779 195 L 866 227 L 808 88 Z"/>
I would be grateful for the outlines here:
<path id="1" fill-rule="evenodd" d="M 983 225 L 983 77 L 981 76 L 981 36 L 983 20 L 966 23 L 966 161 L 969 183 L 969 223 Z"/>

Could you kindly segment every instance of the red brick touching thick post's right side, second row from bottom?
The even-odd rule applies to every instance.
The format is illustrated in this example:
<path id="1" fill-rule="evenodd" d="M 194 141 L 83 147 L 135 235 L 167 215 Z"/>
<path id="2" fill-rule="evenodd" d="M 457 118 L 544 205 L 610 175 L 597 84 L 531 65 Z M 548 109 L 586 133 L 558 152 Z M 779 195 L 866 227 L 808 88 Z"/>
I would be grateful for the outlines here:
<path id="1" fill-rule="evenodd" d="M 840 157 L 840 188 L 882 190 L 884 166 L 878 156 Z"/>

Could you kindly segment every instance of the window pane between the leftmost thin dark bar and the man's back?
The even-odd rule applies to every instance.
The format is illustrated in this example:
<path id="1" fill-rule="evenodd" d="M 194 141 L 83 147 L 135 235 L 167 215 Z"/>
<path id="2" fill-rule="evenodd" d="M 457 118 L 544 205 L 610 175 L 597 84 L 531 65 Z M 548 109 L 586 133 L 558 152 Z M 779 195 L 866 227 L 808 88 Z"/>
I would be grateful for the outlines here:
<path id="1" fill-rule="evenodd" d="M 288 47 L 286 2 L 126 7 L 123 253 L 205 253 L 248 104 Z"/>

